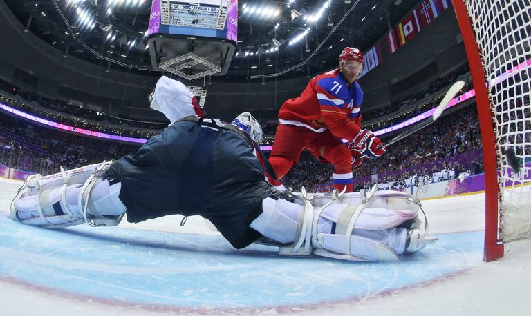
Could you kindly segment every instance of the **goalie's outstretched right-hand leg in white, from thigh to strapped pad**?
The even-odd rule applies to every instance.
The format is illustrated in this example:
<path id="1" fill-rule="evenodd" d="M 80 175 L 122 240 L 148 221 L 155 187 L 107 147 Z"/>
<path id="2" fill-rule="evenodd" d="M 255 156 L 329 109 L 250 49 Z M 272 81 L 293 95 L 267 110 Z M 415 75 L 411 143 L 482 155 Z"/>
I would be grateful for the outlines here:
<path id="1" fill-rule="evenodd" d="M 408 228 L 420 227 L 420 204 L 396 191 L 367 199 L 348 193 L 315 195 L 306 206 L 264 199 L 263 213 L 250 225 L 265 237 L 290 246 L 282 255 L 323 255 L 355 261 L 393 261 L 407 248 Z M 308 205 L 310 204 L 310 205 Z M 409 221 L 408 225 L 404 225 Z M 400 227 L 398 227 L 400 226 Z M 403 227 L 402 227 L 403 226 Z M 347 237 L 348 236 L 348 237 Z"/>

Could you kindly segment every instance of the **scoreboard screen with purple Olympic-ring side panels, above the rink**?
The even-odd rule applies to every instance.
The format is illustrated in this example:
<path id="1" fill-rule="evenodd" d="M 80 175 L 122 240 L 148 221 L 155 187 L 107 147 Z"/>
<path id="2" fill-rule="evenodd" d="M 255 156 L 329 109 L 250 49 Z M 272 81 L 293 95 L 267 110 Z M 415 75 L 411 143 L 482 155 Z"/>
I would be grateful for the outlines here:
<path id="1" fill-rule="evenodd" d="M 153 0 L 149 34 L 176 34 L 237 41 L 238 0 Z"/>

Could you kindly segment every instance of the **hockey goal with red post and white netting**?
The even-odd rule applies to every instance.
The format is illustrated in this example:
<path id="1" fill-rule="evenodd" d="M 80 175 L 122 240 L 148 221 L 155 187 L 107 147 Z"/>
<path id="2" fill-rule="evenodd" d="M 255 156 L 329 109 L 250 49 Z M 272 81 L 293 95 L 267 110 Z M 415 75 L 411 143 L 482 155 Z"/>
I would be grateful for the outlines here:
<path id="1" fill-rule="evenodd" d="M 484 259 L 492 261 L 503 256 L 503 244 L 531 237 L 531 3 L 452 1 L 476 90 L 485 163 Z"/>

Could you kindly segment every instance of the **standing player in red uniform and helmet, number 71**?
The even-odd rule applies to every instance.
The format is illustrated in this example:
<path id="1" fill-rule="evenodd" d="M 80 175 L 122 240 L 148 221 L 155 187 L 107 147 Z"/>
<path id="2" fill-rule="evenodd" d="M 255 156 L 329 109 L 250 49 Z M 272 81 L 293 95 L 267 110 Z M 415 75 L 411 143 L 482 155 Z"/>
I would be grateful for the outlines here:
<path id="1" fill-rule="evenodd" d="M 352 192 L 352 166 L 359 166 L 363 155 L 374 158 L 384 154 L 382 141 L 360 128 L 363 92 L 356 79 L 362 63 L 360 50 L 344 48 L 338 69 L 313 77 L 300 97 L 283 103 L 269 159 L 279 179 L 307 149 L 335 166 L 332 179 L 337 190 L 346 186 L 346 192 Z M 349 141 L 348 147 L 342 139 Z"/>

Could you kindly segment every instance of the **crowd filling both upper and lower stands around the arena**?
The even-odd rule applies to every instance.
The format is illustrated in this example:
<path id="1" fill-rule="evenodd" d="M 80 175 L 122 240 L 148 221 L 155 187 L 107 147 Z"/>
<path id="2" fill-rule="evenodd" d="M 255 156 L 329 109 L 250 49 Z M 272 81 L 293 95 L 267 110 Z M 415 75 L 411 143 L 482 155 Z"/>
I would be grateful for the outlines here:
<path id="1" fill-rule="evenodd" d="M 425 95 L 445 88 L 449 83 L 455 81 L 456 77 L 467 71 L 469 71 L 467 65 L 462 66 L 447 76 L 432 82 L 426 90 L 395 101 L 392 106 L 383 110 L 364 112 L 364 118 L 367 120 L 387 115 L 406 103 L 413 105 L 415 101 L 422 99 Z M 94 128 L 94 130 L 103 129 L 118 135 L 127 131 L 128 136 L 144 138 L 156 135 L 158 132 L 158 130 L 139 132 L 138 130 L 131 130 L 127 126 L 124 126 L 123 129 L 109 130 L 109 122 L 119 124 L 123 121 L 102 117 L 93 110 L 72 106 L 66 101 L 50 100 L 21 91 L 10 83 L 1 80 L 0 90 L 8 92 L 8 95 L 0 96 L 4 103 L 8 105 L 11 103 L 21 110 L 33 112 L 40 117 L 50 117 L 63 124 L 87 129 Z M 17 99 L 12 99 L 12 97 Z M 44 106 L 68 114 L 68 116 L 57 115 L 57 112 L 46 113 L 41 108 L 33 108 L 32 104 Z M 411 108 L 407 115 L 413 117 L 433 106 L 433 103 L 420 104 Z M 355 190 L 370 187 L 375 181 L 373 175 L 378 175 L 377 181 L 380 188 L 398 189 L 418 185 L 420 182 L 443 181 L 483 172 L 481 170 L 483 166 L 481 152 L 478 150 L 481 148 L 481 143 L 478 136 L 476 110 L 474 110 L 474 106 L 467 106 L 458 113 L 458 120 L 443 117 L 439 122 L 408 138 L 407 141 L 394 144 L 386 152 L 386 155 L 379 159 L 365 159 L 363 164 L 354 170 Z M 76 117 L 88 118 L 93 121 L 104 119 L 102 123 L 105 124 L 80 121 Z M 395 119 L 403 120 L 407 117 Z M 395 119 L 387 119 L 382 121 L 382 124 L 394 124 Z M 369 128 L 373 127 L 370 126 Z M 266 135 L 265 138 L 272 142 L 274 135 Z M 59 132 L 30 124 L 22 119 L 0 115 L 0 164 L 11 168 L 49 174 L 57 172 L 59 166 L 70 169 L 103 160 L 118 159 L 122 155 L 135 152 L 140 147 L 140 144 L 116 141 L 106 141 L 109 144 L 106 146 L 101 146 L 101 143 L 102 140 L 100 139 Z M 304 185 L 310 191 L 329 192 L 332 190 L 330 184 L 332 172 L 333 167 L 330 164 L 322 164 L 309 152 L 303 152 L 297 166 L 292 168 L 282 181 L 286 186 L 292 186 L 295 190 L 299 190 Z"/>

